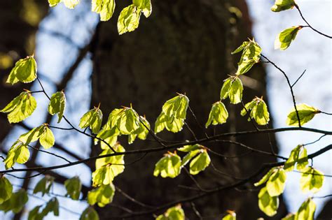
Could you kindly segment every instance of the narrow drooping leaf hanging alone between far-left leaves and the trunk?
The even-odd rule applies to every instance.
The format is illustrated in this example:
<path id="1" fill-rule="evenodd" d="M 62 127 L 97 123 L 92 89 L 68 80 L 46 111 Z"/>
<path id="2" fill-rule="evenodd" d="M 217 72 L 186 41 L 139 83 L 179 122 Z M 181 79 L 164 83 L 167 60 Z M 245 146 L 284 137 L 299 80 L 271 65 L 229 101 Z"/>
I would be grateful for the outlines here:
<path id="1" fill-rule="evenodd" d="M 63 91 L 57 91 L 50 97 L 50 104 L 48 104 L 48 112 L 50 115 L 58 114 L 59 123 L 64 115 L 64 109 L 66 108 L 66 96 Z"/>

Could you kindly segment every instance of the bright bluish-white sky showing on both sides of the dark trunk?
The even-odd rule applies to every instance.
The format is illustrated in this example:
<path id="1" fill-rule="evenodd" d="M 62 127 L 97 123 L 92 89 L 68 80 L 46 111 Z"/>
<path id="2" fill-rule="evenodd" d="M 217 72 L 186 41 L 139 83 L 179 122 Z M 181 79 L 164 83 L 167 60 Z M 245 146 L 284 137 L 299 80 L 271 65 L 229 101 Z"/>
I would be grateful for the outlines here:
<path id="1" fill-rule="evenodd" d="M 294 82 L 298 76 L 306 69 L 305 75 L 300 79 L 295 88 L 296 100 L 298 103 L 307 103 L 313 105 L 324 112 L 332 112 L 331 102 L 331 41 L 323 36 L 314 33 L 310 29 L 302 29 L 293 41 L 291 46 L 285 51 L 274 50 L 273 45 L 275 36 L 288 27 L 298 24 L 304 24 L 294 10 L 287 10 L 282 13 L 272 13 L 270 6 L 272 1 L 266 0 L 247 0 L 251 19 L 253 20 L 253 31 L 256 41 L 263 48 L 263 54 L 274 61 L 289 75 L 291 82 Z M 313 27 L 320 31 L 331 35 L 331 10 L 332 3 L 329 0 L 298 0 L 298 5 L 303 11 L 303 15 Z M 46 87 L 48 94 L 54 92 L 53 83 L 59 82 L 62 74 L 71 65 L 72 60 L 78 53 L 78 47 L 82 47 L 89 41 L 98 17 L 95 13 L 88 12 L 90 6 L 86 1 L 81 2 L 75 10 L 68 10 L 64 6 L 59 5 L 51 10 L 50 15 L 41 23 L 41 31 L 37 36 L 36 59 L 39 64 L 39 73 Z M 113 18 L 115 19 L 115 18 Z M 56 38 L 50 31 L 57 31 L 71 38 L 76 46 L 68 43 L 62 38 Z M 78 47 L 77 47 L 78 46 Z M 52 54 L 52 56 L 50 56 Z M 292 108 L 292 100 L 289 90 L 286 89 L 286 81 L 281 73 L 272 66 L 266 65 L 268 73 L 268 92 L 269 92 L 269 109 L 272 117 L 275 119 L 275 127 L 286 126 L 286 116 Z M 79 122 L 90 105 L 90 83 L 89 78 L 92 71 L 92 63 L 88 57 L 81 63 L 74 75 L 74 79 L 69 82 L 67 94 L 67 110 L 66 115 L 71 122 Z M 39 90 L 39 85 L 34 85 L 35 90 Z M 71 89 L 75 88 L 75 89 Z M 78 91 L 78 88 L 80 92 Z M 33 89 L 34 90 L 34 89 Z M 46 99 L 42 95 L 36 95 L 39 103 L 36 112 L 32 117 L 27 119 L 27 124 L 36 126 L 43 123 L 43 117 L 46 115 Z M 44 103 L 44 104 L 43 104 Z M 38 117 L 36 117 L 38 115 Z M 326 115 L 317 115 L 312 122 L 306 124 L 307 127 L 313 127 L 323 130 L 332 130 L 331 117 Z M 67 124 L 60 123 L 59 126 L 66 127 Z M 23 129 L 15 129 L 8 138 L 6 145 L 11 146 L 12 138 L 18 138 L 18 135 L 26 132 Z M 82 157 L 88 157 L 90 153 L 89 140 L 82 135 L 76 133 L 60 133 L 55 131 L 57 141 L 70 146 L 71 151 L 77 152 Z M 319 135 L 312 133 L 277 133 L 279 142 L 279 154 L 289 156 L 291 149 L 298 144 L 311 142 L 316 140 Z M 317 144 L 307 147 L 308 154 L 316 152 L 317 149 L 325 147 L 331 143 L 331 138 L 323 138 Z M 50 149 L 51 152 L 57 152 L 56 149 Z M 69 157 L 69 159 L 71 159 Z M 328 152 L 314 159 L 314 168 L 321 170 L 323 173 L 332 174 L 332 152 Z M 72 159 L 74 160 L 74 159 Z M 39 154 L 38 161 L 45 165 L 61 164 L 62 161 L 55 161 L 46 154 Z M 20 166 L 18 166 L 19 168 Z M 2 167 L 1 167 L 2 169 Z M 64 168 L 57 170 L 64 176 L 72 177 L 78 175 L 83 184 L 90 184 L 90 170 L 86 167 L 80 169 Z M 299 188 L 300 175 L 291 173 L 287 178 L 284 199 L 290 212 L 296 212 L 300 203 L 307 198 L 308 195 L 303 194 Z M 38 181 L 35 178 L 31 186 Z M 15 184 L 20 184 L 18 179 L 11 179 Z M 14 189 L 18 189 L 15 186 Z M 53 191 L 55 193 L 64 194 L 64 187 L 55 185 Z M 317 193 L 317 196 L 324 196 L 332 193 L 332 178 L 326 177 L 324 188 Z M 46 200 L 49 198 L 46 197 Z M 85 203 L 77 205 L 66 198 L 58 198 L 62 208 L 60 210 L 60 218 L 54 219 L 78 219 L 78 214 L 87 206 Z M 317 203 L 317 212 L 321 209 L 324 199 L 315 199 Z M 31 198 L 28 208 L 31 209 L 36 205 L 43 204 L 43 200 Z M 75 205 L 76 204 L 76 205 Z M 66 210 L 65 207 L 75 207 L 75 211 Z M 10 219 L 11 214 L 3 214 L 0 212 L 0 219 Z M 27 213 L 25 213 L 25 218 Z M 48 219 L 53 219 L 53 215 L 49 214 Z"/>

